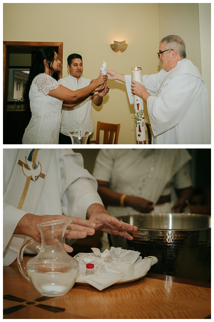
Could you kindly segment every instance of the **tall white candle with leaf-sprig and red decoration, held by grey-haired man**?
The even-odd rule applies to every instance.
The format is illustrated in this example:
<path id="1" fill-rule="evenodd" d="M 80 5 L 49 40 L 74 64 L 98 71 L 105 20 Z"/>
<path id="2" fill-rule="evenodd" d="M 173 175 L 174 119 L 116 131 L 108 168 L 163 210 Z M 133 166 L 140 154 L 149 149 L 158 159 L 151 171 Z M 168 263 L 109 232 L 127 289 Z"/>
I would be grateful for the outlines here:
<path id="1" fill-rule="evenodd" d="M 142 70 L 141 67 L 133 67 L 131 70 L 132 81 L 137 81 L 142 84 Z M 134 114 L 136 124 L 136 138 L 137 144 L 146 144 L 146 132 L 144 122 L 143 99 L 134 94 Z M 138 143 L 139 142 L 139 143 Z"/>

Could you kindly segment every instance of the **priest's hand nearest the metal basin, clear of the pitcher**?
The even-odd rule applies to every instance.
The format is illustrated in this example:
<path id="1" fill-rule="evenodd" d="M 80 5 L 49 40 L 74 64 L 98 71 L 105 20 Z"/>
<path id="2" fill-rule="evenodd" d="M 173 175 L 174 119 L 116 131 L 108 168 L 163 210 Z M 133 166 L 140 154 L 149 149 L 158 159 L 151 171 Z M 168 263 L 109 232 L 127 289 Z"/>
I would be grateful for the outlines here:
<path id="1" fill-rule="evenodd" d="M 87 217 L 89 222 L 95 223 L 95 230 L 101 230 L 112 235 L 120 235 L 126 239 L 133 240 L 127 232 L 136 232 L 138 228 L 119 221 L 112 217 L 101 204 L 91 204 L 87 210 Z"/>

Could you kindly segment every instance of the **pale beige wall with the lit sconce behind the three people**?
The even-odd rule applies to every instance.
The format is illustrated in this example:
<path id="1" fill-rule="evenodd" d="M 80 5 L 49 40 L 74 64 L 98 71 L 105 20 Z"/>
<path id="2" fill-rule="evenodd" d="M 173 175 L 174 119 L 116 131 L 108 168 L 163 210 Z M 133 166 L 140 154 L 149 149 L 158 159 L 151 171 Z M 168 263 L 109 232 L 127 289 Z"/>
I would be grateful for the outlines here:
<path id="1" fill-rule="evenodd" d="M 20 33 L 14 32 L 17 16 L 25 17 L 26 27 Z M 187 41 L 187 58 L 201 71 L 198 21 L 198 4 L 8 3 L 4 4 L 3 40 L 63 42 L 63 77 L 68 75 L 67 56 L 76 52 L 83 57 L 83 77 L 93 79 L 97 78 L 103 60 L 108 69 L 124 74 L 130 74 L 134 66 L 141 66 L 144 74 L 157 73 L 160 38 L 178 33 Z M 113 52 L 110 43 L 114 40 L 126 40 L 126 51 Z M 97 121 L 121 123 L 118 144 L 135 144 L 134 109 L 129 104 L 125 84 L 108 83 L 110 92 L 103 105 L 92 107 L 94 135 L 91 138 L 95 139 Z"/>

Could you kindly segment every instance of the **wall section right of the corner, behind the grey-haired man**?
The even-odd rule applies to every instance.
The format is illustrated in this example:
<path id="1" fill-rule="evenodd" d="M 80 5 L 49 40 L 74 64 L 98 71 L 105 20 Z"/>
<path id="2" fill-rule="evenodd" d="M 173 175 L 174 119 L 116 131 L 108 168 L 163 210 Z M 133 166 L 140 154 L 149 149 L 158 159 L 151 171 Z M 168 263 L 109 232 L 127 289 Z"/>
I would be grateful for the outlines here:
<path id="1" fill-rule="evenodd" d="M 160 40 L 170 34 L 184 39 L 186 58 L 198 67 L 207 87 L 211 115 L 211 4 L 161 3 L 158 16 Z"/>

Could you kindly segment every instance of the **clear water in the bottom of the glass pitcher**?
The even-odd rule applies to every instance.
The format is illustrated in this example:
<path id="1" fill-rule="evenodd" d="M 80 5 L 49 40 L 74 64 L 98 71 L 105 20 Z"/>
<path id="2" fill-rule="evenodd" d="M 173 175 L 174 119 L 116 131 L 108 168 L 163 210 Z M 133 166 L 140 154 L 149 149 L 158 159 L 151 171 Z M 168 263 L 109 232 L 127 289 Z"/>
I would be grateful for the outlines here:
<path id="1" fill-rule="evenodd" d="M 73 287 L 77 274 L 78 270 L 41 272 L 28 269 L 28 276 L 35 289 L 49 297 L 66 294 Z"/>

